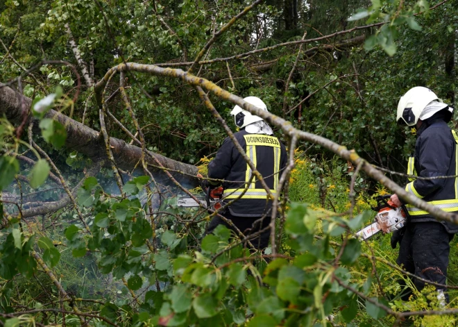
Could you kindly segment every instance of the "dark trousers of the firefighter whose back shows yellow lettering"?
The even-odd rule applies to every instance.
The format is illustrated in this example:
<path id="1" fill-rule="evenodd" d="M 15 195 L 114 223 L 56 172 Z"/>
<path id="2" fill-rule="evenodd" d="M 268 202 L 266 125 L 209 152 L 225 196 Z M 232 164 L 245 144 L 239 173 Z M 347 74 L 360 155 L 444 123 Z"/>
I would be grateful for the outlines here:
<path id="1" fill-rule="evenodd" d="M 232 221 L 232 224 L 234 224 L 241 233 L 243 233 L 245 236 L 255 234 L 259 232 L 260 230 L 266 228 L 269 226 L 271 222 L 271 217 L 236 217 L 230 215 L 230 212 L 227 212 L 223 215 L 226 219 Z M 233 230 L 235 235 L 239 235 L 235 231 L 234 228 L 232 228 L 226 221 L 224 221 L 221 217 L 214 217 L 212 221 L 210 221 L 210 224 L 208 225 L 207 228 L 207 233 L 210 234 L 214 230 L 214 228 L 217 228 L 218 225 L 224 225 L 230 230 Z M 250 240 L 251 244 L 255 246 L 256 249 L 262 250 L 265 249 L 269 245 L 269 236 L 270 236 L 270 229 L 265 230 L 264 232 L 258 234 L 256 237 Z"/>

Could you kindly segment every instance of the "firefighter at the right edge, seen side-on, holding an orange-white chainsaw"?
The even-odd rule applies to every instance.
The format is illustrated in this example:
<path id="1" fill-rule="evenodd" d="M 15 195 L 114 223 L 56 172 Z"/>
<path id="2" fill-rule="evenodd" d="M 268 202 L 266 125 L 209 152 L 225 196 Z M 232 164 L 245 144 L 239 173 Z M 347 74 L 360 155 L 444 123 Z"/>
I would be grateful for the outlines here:
<path id="1" fill-rule="evenodd" d="M 416 133 L 414 157 L 409 158 L 409 175 L 432 179 L 412 178 L 405 190 L 432 206 L 447 212 L 458 212 L 458 178 L 435 178 L 458 175 L 458 137 L 448 126 L 453 108 L 443 103 L 426 87 L 414 87 L 401 97 L 398 104 L 398 124 L 411 126 Z M 391 201 L 400 206 L 396 194 Z M 409 221 L 405 230 L 396 231 L 391 246 L 400 243 L 398 265 L 421 278 L 445 285 L 447 279 L 450 241 L 458 226 L 437 221 L 428 212 L 406 206 Z M 403 234 L 403 235 L 402 235 Z M 425 286 L 414 278 L 418 290 Z M 436 287 L 441 306 L 448 302 L 445 287 Z M 404 301 L 411 292 L 405 292 Z"/>

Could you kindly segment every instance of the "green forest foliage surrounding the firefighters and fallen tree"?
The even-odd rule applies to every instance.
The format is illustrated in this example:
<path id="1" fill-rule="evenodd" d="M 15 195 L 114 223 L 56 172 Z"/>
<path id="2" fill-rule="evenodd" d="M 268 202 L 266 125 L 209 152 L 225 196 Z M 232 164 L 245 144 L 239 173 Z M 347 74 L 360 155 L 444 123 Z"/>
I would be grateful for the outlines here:
<path id="1" fill-rule="evenodd" d="M 389 237 L 355 238 L 375 214 L 373 196 L 387 190 L 364 176 L 354 176 L 352 183 L 355 167 L 319 146 L 298 144 L 295 149 L 277 224 L 280 251 L 271 254 L 272 248 L 250 250 L 222 226 L 206 235 L 207 212 L 178 207 L 176 194 L 183 190 L 160 174 L 121 171 L 121 187 L 114 181 L 116 169 L 87 176 L 92 162 L 65 149 L 67 126 L 44 118 L 53 108 L 101 131 L 94 87 L 78 80 L 71 64 L 80 72 L 85 66 L 94 81 L 124 61 L 189 67 L 186 62 L 250 3 L 0 3 L 1 82 L 13 81 L 33 99 L 32 113 L 39 121 L 27 142 L 26 125 L 15 128 L 0 120 L 3 324 L 393 326 L 395 317 L 387 310 L 438 308 L 428 287 L 415 291 L 409 303 L 400 301 L 402 289 L 393 281 L 412 282 L 389 265 L 396 260 Z M 289 3 L 296 8 L 289 10 Z M 405 133 L 393 124 L 400 95 L 425 85 L 446 102 L 455 99 L 458 23 L 453 17 L 458 8 L 448 1 L 430 10 L 435 4 L 264 1 L 221 34 L 203 57 L 214 62 L 193 74 L 243 97 L 261 97 L 293 126 L 345 144 L 375 165 L 404 171 L 414 139 L 405 142 Z M 323 37 L 326 43 L 309 42 L 303 48 L 278 46 L 301 35 L 312 39 L 348 30 L 363 19 L 389 24 L 359 29 L 351 37 Z M 262 48 L 252 56 L 215 60 Z M 24 72 L 37 62 L 36 69 Z M 104 90 L 106 108 L 129 131 L 137 131 L 134 113 L 146 149 L 199 165 L 205 176 L 226 133 L 195 90 L 178 79 L 134 72 L 126 72 L 123 83 L 133 112 L 119 101 L 114 80 Z M 213 103 L 223 118 L 229 117 L 232 103 Z M 114 121 L 105 120 L 110 137 L 131 141 Z M 281 138 L 288 141 L 287 135 Z M 67 185 L 56 182 L 62 179 Z M 79 181 L 80 187 L 69 188 Z M 198 195 L 200 190 L 191 191 Z M 76 200 L 54 209 L 66 194 Z M 49 208 L 44 215 L 21 217 L 40 203 Z M 456 242 L 449 284 L 458 278 Z M 456 292 L 450 291 L 450 297 L 450 307 L 456 306 Z M 416 326 L 446 326 L 455 317 L 414 320 Z"/>

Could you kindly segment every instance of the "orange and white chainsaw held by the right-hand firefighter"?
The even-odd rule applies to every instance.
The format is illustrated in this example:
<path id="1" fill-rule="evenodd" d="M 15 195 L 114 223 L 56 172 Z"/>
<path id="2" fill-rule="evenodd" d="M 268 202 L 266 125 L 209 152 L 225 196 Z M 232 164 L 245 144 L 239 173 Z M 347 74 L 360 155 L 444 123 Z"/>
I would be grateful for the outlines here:
<path id="1" fill-rule="evenodd" d="M 378 211 L 374 218 L 375 222 L 356 233 L 362 240 L 367 240 L 380 231 L 385 234 L 391 233 L 401 229 L 407 223 L 404 206 L 396 207 L 391 200 L 387 201 L 390 197 L 391 195 L 377 196 L 377 206 L 373 208 L 373 210 Z"/>

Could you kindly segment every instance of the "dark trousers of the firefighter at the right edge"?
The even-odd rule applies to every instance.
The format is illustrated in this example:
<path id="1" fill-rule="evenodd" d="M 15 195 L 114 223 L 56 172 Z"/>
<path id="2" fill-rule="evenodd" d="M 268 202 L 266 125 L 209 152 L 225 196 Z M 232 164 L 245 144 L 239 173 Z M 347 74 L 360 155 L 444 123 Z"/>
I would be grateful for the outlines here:
<path id="1" fill-rule="evenodd" d="M 445 285 L 450 241 L 453 236 L 439 222 L 409 222 L 396 262 L 409 273 Z M 417 290 L 423 290 L 425 283 L 416 278 L 412 279 Z M 436 286 L 436 290 L 446 291 L 445 287 L 439 286 Z M 407 301 L 411 294 L 410 291 L 404 292 L 401 299 Z M 446 301 L 448 302 L 448 294 Z"/>

